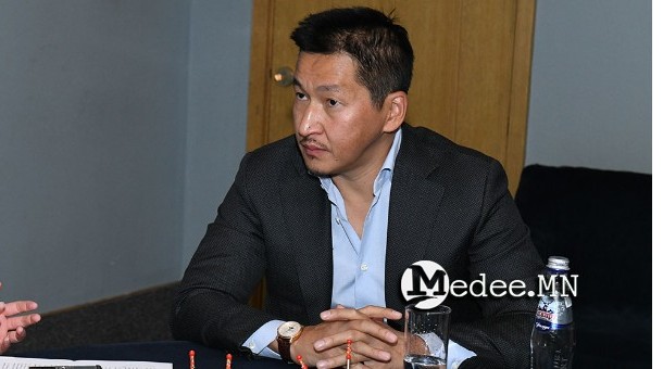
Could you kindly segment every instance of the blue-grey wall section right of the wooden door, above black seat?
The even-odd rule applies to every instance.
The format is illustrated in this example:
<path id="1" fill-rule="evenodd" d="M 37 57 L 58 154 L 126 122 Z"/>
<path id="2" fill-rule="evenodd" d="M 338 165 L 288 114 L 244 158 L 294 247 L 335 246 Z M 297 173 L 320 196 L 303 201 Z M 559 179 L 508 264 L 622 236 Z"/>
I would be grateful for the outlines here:
<path id="1" fill-rule="evenodd" d="M 537 1 L 526 163 L 652 173 L 651 1 Z"/>

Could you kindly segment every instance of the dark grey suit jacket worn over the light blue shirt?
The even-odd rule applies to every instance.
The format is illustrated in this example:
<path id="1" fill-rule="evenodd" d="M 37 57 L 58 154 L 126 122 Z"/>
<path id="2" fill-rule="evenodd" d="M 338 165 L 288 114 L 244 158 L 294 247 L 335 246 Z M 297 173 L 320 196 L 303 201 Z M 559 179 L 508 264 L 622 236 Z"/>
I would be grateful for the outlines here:
<path id="1" fill-rule="evenodd" d="M 450 280 L 520 279 L 534 290 L 542 264 L 506 188 L 501 165 L 426 129 L 403 125 L 387 234 L 387 306 L 403 311 L 402 272 L 440 264 Z M 330 205 L 293 137 L 248 153 L 193 255 L 175 302 L 176 339 L 226 349 L 263 323 L 320 322 L 332 302 Z M 265 310 L 247 306 L 266 277 Z M 371 293 L 371 291 L 366 291 Z M 527 366 L 533 298 L 445 301 L 451 339 L 489 366 Z M 402 330 L 402 321 L 395 322 Z"/>

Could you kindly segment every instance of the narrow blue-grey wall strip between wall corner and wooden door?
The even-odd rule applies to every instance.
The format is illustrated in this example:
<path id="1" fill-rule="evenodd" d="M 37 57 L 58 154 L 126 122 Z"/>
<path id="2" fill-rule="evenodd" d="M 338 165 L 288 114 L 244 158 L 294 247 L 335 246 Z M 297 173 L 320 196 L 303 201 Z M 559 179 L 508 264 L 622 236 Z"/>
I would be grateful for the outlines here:
<path id="1" fill-rule="evenodd" d="M 250 1 L 191 3 L 183 271 L 246 151 L 251 9 Z"/>

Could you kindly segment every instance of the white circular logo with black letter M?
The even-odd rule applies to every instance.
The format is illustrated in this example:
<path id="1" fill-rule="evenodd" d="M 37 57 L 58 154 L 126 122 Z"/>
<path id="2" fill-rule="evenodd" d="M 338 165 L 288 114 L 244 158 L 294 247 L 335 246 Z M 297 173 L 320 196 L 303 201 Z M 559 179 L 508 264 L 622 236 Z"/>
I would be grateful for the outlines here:
<path id="1" fill-rule="evenodd" d="M 418 260 L 403 271 L 401 293 L 406 302 L 420 309 L 439 306 L 449 294 L 449 276 L 439 264 Z"/>

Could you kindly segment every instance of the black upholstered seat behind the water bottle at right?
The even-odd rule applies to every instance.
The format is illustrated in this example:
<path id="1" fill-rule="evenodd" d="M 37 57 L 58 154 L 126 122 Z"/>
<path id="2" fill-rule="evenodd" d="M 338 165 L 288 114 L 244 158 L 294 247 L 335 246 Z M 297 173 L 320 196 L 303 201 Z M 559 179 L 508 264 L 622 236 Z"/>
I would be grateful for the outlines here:
<path id="1" fill-rule="evenodd" d="M 651 368 L 652 176 L 525 167 L 515 202 L 543 260 L 578 275 L 575 368 Z"/>

